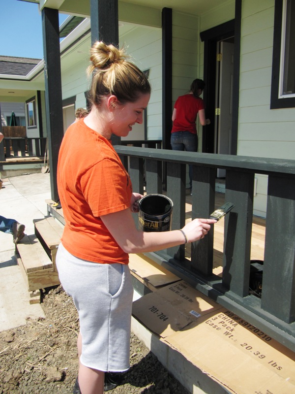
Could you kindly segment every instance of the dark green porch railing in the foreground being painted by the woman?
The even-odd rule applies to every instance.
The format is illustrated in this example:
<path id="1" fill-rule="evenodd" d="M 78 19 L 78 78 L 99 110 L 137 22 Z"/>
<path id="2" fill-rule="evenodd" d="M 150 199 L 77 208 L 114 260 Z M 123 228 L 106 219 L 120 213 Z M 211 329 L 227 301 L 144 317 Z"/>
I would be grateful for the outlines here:
<path id="1" fill-rule="evenodd" d="M 232 320 L 295 351 L 295 161 L 115 146 L 130 173 L 133 190 L 163 193 L 174 202 L 172 229 L 185 223 L 186 164 L 193 164 L 192 219 L 214 210 L 216 169 L 226 169 L 222 278 L 212 273 L 213 231 L 191 245 L 147 255 L 203 294 L 228 308 Z M 266 174 L 267 211 L 261 298 L 249 295 L 254 175 Z M 145 175 L 145 180 L 144 180 Z M 166 193 L 166 192 L 165 192 Z M 271 340 L 271 339 L 269 339 Z"/>

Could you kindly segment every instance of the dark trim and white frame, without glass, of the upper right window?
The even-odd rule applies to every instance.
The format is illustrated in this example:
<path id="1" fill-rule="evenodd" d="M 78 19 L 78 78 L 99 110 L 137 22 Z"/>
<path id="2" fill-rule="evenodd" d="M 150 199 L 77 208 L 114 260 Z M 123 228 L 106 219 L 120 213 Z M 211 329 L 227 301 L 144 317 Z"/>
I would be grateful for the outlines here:
<path id="1" fill-rule="evenodd" d="M 270 93 L 270 109 L 278 108 L 294 108 L 294 94 L 280 95 L 283 67 L 282 64 L 282 42 L 285 41 L 283 34 L 283 12 L 285 12 L 286 0 L 275 0 L 274 5 L 274 29 L 273 29 L 273 52 L 272 52 L 272 75 L 271 75 L 271 93 Z M 280 54 L 280 56 L 278 56 Z"/>

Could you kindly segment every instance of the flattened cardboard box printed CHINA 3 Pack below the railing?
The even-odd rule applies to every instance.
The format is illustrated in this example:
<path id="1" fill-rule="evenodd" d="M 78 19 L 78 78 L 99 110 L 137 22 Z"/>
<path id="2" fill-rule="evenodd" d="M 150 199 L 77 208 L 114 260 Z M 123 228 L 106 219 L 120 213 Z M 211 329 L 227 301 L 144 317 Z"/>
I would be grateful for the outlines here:
<path id="1" fill-rule="evenodd" d="M 295 393 L 295 353 L 184 281 L 138 299 L 133 315 L 232 393 Z"/>

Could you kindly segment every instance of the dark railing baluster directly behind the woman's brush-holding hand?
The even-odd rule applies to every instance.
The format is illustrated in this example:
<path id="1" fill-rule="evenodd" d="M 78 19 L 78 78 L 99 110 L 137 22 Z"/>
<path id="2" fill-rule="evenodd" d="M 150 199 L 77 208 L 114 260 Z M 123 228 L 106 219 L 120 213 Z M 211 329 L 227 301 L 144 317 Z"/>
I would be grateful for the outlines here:
<path id="1" fill-rule="evenodd" d="M 192 219 L 208 218 L 214 211 L 215 168 L 193 166 Z M 191 244 L 192 270 L 211 276 L 213 268 L 213 234 L 212 226 L 208 235 Z"/>

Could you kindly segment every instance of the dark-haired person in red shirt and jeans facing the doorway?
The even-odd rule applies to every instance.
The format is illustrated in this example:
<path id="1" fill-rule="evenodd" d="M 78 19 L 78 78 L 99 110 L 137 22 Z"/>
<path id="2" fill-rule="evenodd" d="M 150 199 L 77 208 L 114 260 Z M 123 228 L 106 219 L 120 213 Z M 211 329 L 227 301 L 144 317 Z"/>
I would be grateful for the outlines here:
<path id="1" fill-rule="evenodd" d="M 188 94 L 179 96 L 172 114 L 171 147 L 175 151 L 198 151 L 197 115 L 202 126 L 210 124 L 205 117 L 205 106 L 200 96 L 205 88 L 202 79 L 194 79 Z M 192 166 L 189 165 L 189 183 L 192 190 Z"/>

